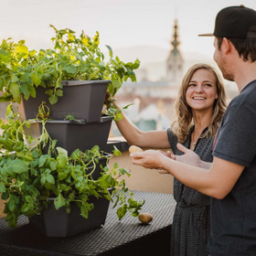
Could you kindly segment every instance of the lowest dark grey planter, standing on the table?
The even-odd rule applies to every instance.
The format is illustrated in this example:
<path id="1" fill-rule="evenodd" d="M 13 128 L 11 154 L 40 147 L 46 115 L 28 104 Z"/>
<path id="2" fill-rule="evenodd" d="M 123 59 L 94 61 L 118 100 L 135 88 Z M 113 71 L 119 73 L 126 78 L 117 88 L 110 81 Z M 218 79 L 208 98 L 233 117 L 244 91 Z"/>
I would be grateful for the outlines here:
<path id="1" fill-rule="evenodd" d="M 57 210 L 52 202 L 40 215 L 29 218 L 29 222 L 47 237 L 69 237 L 101 228 L 105 224 L 110 201 L 105 197 L 91 196 L 89 203 L 93 203 L 94 208 L 89 212 L 88 219 L 80 216 L 80 208 L 75 203 L 71 204 L 71 211 L 67 213 L 64 207 Z"/>

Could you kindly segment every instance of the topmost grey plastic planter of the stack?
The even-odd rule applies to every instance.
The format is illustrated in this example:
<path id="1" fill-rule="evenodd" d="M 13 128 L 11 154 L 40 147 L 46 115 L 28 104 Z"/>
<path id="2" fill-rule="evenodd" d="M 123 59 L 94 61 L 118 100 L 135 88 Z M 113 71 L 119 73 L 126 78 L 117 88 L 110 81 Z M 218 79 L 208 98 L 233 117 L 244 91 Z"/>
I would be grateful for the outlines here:
<path id="1" fill-rule="evenodd" d="M 64 120 L 68 114 L 77 119 L 85 119 L 89 122 L 99 122 L 110 80 L 70 80 L 61 81 L 63 96 L 59 97 L 56 104 L 48 102 L 47 88 L 38 87 L 36 98 L 23 99 L 18 105 L 23 120 L 36 118 L 38 107 L 45 101 L 50 110 L 49 118 Z"/>

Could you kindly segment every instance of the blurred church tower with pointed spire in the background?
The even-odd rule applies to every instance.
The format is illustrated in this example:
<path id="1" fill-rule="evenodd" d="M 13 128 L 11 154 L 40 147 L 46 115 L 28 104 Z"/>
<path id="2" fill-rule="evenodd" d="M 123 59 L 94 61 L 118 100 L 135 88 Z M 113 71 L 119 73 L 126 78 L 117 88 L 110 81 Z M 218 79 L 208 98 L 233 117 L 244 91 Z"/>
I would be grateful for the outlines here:
<path id="1" fill-rule="evenodd" d="M 177 39 L 177 20 L 175 20 L 173 41 L 171 42 L 172 50 L 167 59 L 167 74 L 166 80 L 173 82 L 180 82 L 183 77 L 183 58 L 179 49 L 177 48 L 180 42 Z M 177 86 L 178 84 L 176 84 Z"/>

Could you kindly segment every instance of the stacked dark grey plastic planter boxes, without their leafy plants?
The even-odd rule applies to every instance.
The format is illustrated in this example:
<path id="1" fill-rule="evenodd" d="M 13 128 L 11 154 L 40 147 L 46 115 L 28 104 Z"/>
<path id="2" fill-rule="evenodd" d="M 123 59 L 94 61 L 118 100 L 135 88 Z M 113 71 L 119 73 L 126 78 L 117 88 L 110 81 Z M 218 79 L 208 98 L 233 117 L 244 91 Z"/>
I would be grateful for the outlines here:
<path id="1" fill-rule="evenodd" d="M 65 97 L 59 98 L 56 104 L 48 103 L 49 116 L 46 128 L 52 139 L 56 139 L 57 146 L 68 151 L 70 155 L 74 150 L 90 150 L 98 145 L 104 154 L 112 124 L 112 116 L 101 116 L 101 111 L 110 80 L 92 81 L 62 81 Z M 38 107 L 43 102 L 48 102 L 48 96 L 43 88 L 37 90 L 37 98 L 22 100 L 19 105 L 21 117 L 24 120 L 34 119 L 37 116 Z M 73 115 L 74 121 L 65 120 L 67 115 Z M 27 134 L 38 138 L 42 132 L 42 124 L 31 123 Z M 47 154 L 47 150 L 44 149 Z M 101 176 L 101 166 L 106 165 L 106 158 L 99 158 L 99 164 L 92 174 L 93 179 Z M 66 237 L 82 231 L 96 229 L 105 223 L 109 200 L 102 197 L 91 197 L 94 208 L 91 210 L 90 219 L 80 216 L 80 208 L 73 205 L 68 214 L 66 208 L 57 211 L 54 204 L 42 214 L 30 219 L 38 229 L 41 229 L 48 237 Z"/>

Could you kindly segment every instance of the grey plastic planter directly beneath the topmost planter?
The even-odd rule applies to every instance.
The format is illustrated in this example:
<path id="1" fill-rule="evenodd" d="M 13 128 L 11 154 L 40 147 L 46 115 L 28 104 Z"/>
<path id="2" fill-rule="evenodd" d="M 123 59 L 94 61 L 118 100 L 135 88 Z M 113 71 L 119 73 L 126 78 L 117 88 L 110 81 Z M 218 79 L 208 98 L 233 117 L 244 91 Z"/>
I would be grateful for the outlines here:
<path id="1" fill-rule="evenodd" d="M 106 151 L 109 133 L 111 130 L 112 116 L 103 116 L 97 123 L 86 123 L 80 119 L 79 122 L 50 120 L 46 123 L 46 129 L 49 136 L 58 140 L 57 146 L 65 148 L 69 155 L 79 148 L 81 151 L 91 149 L 98 145 L 102 151 Z M 42 131 L 42 124 L 38 122 L 31 123 L 30 128 L 25 127 L 25 132 L 38 138 Z M 44 153 L 47 154 L 45 149 Z"/>

